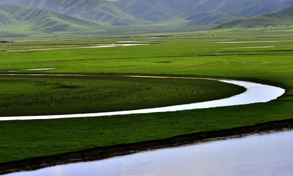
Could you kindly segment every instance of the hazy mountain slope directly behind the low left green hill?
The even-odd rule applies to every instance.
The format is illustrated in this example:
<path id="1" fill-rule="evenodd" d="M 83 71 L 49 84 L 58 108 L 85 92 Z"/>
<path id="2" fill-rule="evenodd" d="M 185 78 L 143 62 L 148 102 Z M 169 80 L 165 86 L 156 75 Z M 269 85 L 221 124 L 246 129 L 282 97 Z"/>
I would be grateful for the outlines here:
<path id="1" fill-rule="evenodd" d="M 0 2 L 26 8 L 45 9 L 100 24 L 139 23 L 114 2 L 106 0 L 0 0 Z"/>

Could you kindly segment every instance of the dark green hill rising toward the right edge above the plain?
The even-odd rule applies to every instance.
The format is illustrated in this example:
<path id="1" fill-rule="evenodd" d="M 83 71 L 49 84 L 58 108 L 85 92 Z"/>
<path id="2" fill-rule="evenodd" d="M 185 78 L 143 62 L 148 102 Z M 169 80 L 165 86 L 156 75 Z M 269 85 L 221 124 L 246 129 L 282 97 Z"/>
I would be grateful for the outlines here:
<path id="1" fill-rule="evenodd" d="M 279 25 L 293 25 L 293 6 L 287 7 L 283 10 L 274 13 L 267 13 L 264 15 L 251 17 L 247 19 L 237 19 L 232 22 L 220 24 L 213 29 L 226 28 L 255 28 L 262 26 L 279 26 Z"/>

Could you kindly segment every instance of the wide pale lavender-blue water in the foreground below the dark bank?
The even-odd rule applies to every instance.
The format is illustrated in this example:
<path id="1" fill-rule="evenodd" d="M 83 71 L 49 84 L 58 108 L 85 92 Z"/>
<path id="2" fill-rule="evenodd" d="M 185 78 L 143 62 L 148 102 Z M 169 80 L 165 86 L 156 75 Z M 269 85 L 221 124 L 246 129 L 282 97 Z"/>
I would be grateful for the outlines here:
<path id="1" fill-rule="evenodd" d="M 292 146 L 287 129 L 7 176 L 292 176 Z"/>

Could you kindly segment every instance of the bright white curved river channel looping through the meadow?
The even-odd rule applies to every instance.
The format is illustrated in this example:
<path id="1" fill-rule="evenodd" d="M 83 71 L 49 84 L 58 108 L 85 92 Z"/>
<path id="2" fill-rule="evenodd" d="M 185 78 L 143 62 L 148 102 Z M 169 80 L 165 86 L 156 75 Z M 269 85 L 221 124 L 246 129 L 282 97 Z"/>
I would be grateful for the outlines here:
<path id="1" fill-rule="evenodd" d="M 15 75 L 15 74 L 7 74 Z M 18 74 L 19 75 L 19 74 Z M 32 74 L 31 74 L 32 75 Z M 45 75 L 45 74 L 43 74 Z M 28 76 L 28 75 L 27 75 Z M 41 76 L 41 75 L 39 75 Z M 55 75 L 57 76 L 57 75 Z M 64 75 L 63 75 L 64 76 Z M 86 76 L 86 75 L 84 75 Z M 151 77 L 151 76 L 132 76 L 132 77 Z M 179 78 L 179 77 L 156 77 L 153 78 Z M 181 77 L 181 79 L 203 79 L 203 78 L 187 78 Z M 215 80 L 216 81 L 216 80 Z M 217 80 L 225 83 L 235 84 L 247 88 L 244 93 L 224 98 L 220 100 L 191 103 L 184 105 L 150 108 L 142 110 L 124 110 L 114 112 L 98 112 L 98 113 L 85 113 L 85 114 L 66 114 L 66 115 L 38 115 L 38 116 L 12 116 L 12 117 L 0 117 L 0 121 L 3 120 L 33 120 L 33 119 L 56 119 L 56 118 L 72 118 L 72 117 L 96 117 L 106 115 L 123 115 L 123 114 L 134 114 L 134 113 L 151 113 L 151 112 L 167 112 L 167 111 L 178 111 L 178 110 L 193 110 L 213 107 L 224 107 L 233 105 L 245 105 L 251 103 L 268 102 L 281 96 L 285 90 L 269 85 L 263 85 L 259 83 L 252 83 L 247 81 L 235 81 L 235 80 Z"/>

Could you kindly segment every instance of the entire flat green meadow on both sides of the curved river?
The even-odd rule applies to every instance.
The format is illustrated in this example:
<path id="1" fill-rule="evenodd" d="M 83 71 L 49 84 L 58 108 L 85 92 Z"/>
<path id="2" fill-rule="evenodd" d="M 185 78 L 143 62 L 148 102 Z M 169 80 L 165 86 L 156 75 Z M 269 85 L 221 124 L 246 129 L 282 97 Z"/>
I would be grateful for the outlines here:
<path id="1" fill-rule="evenodd" d="M 45 40 L 39 36 L 9 39 L 14 42 L 0 44 L 0 116 L 133 110 L 220 99 L 244 91 L 214 80 L 123 75 L 245 80 L 279 86 L 286 92 L 267 103 L 202 110 L 0 121 L 0 162 L 293 117 L 292 27 L 164 35 L 175 37 L 59 34 Z M 74 48 L 123 43 L 146 45 Z M 62 49 L 31 50 L 48 48 Z M 54 69 L 28 70 L 37 68 Z"/>

